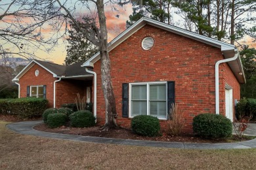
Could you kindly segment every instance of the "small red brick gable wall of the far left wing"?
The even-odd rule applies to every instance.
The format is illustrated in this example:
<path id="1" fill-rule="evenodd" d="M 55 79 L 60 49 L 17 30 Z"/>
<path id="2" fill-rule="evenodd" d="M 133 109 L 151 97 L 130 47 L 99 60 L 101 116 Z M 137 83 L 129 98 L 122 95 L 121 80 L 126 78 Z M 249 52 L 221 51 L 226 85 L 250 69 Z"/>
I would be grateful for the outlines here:
<path id="1" fill-rule="evenodd" d="M 39 75 L 35 76 L 35 70 L 39 70 Z M 46 85 L 46 98 L 49 101 L 49 107 L 53 107 L 53 82 L 56 78 L 43 67 L 33 65 L 22 77 L 20 77 L 20 97 L 27 97 L 27 86 Z"/>

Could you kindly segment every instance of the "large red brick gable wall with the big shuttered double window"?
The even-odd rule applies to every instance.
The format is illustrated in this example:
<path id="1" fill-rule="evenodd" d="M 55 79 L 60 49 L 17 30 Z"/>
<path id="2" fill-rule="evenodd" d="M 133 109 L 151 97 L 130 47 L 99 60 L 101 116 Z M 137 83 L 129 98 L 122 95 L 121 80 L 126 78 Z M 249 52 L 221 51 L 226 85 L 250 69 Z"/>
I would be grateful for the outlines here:
<path id="1" fill-rule="evenodd" d="M 154 46 L 145 51 L 141 42 L 147 36 L 154 38 Z M 130 118 L 121 117 L 122 83 L 175 81 L 175 102 L 184 113 L 185 129 L 191 131 L 194 116 L 215 113 L 215 63 L 219 59 L 223 59 L 219 48 L 145 25 L 110 52 L 119 114 L 117 123 L 121 126 L 131 123 Z M 94 71 L 97 74 L 97 121 L 104 124 L 100 61 L 95 63 Z M 223 99 L 223 93 L 221 97 Z"/>

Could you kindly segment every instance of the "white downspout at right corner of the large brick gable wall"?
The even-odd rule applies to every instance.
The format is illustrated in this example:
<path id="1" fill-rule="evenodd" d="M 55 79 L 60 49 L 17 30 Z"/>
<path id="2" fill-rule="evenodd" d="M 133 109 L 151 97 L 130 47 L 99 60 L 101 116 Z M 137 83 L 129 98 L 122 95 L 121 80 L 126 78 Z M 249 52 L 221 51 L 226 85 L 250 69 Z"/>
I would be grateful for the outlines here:
<path id="1" fill-rule="evenodd" d="M 234 61 L 238 58 L 238 50 L 235 50 L 235 55 L 232 58 L 221 59 L 215 64 L 215 108 L 216 114 L 219 114 L 219 65 L 228 61 Z"/>

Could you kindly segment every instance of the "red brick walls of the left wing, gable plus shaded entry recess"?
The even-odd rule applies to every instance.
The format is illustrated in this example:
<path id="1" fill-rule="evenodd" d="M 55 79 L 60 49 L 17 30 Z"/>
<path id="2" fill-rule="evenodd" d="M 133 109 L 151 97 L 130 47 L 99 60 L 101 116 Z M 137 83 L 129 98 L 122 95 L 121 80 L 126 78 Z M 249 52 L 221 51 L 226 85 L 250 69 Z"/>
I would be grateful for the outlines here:
<path id="1" fill-rule="evenodd" d="M 35 76 L 36 69 L 39 70 L 39 76 Z M 49 71 L 35 63 L 35 65 L 20 78 L 20 97 L 27 96 L 27 86 L 46 85 L 46 97 L 49 101 L 49 107 L 53 107 L 53 84 L 55 80 L 58 79 L 54 78 Z M 91 86 L 90 80 L 62 79 L 60 82 L 56 82 L 56 107 L 58 108 L 64 103 L 75 103 L 74 99 L 77 97 L 77 93 L 79 93 L 81 97 L 86 97 L 87 86 Z"/>

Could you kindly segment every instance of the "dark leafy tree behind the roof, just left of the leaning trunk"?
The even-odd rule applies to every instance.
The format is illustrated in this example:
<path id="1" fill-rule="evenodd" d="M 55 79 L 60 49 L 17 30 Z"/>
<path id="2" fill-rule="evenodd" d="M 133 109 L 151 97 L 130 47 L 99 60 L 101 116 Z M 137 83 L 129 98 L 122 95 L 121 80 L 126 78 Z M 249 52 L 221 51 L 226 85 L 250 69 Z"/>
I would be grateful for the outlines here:
<path id="1" fill-rule="evenodd" d="M 83 27 L 83 22 L 78 22 Z M 91 43 L 83 33 L 77 30 L 75 24 L 71 24 L 71 29 L 68 31 L 67 39 L 67 56 L 65 59 L 66 65 L 71 65 L 79 61 L 86 61 L 98 52 L 98 46 Z"/>

